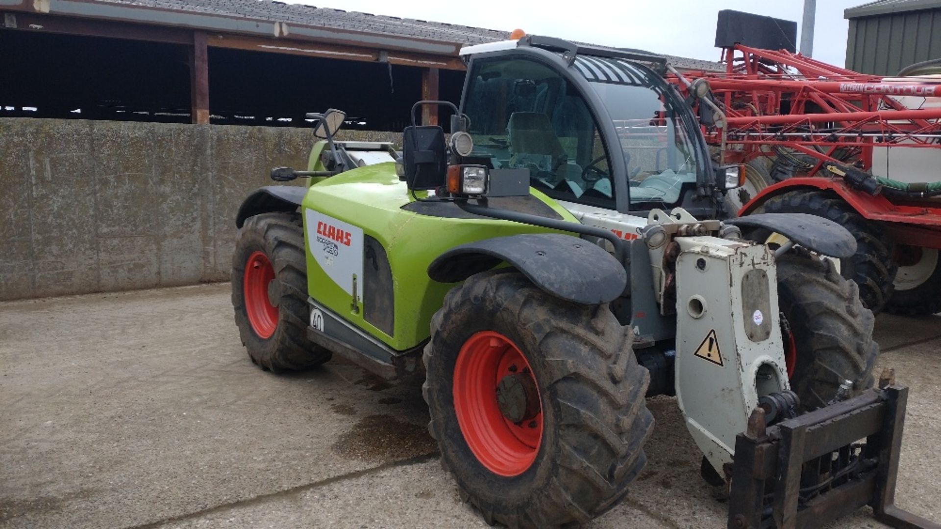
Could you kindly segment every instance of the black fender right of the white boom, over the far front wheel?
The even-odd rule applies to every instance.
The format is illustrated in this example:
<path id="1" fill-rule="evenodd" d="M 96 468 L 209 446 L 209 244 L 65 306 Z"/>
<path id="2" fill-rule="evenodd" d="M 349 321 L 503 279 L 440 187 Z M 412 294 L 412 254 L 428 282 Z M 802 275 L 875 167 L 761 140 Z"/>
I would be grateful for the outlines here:
<path id="1" fill-rule="evenodd" d="M 724 221 L 739 227 L 759 227 L 780 233 L 808 250 L 845 259 L 856 253 L 853 234 L 837 223 L 807 213 L 757 213 Z"/>

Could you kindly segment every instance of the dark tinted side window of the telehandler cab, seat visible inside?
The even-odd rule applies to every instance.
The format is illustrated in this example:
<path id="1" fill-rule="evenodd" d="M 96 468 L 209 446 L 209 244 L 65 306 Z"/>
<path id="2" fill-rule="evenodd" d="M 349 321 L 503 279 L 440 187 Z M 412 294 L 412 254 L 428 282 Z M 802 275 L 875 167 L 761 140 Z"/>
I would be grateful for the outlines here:
<path id="1" fill-rule="evenodd" d="M 538 62 L 474 62 L 463 111 L 474 157 L 494 168 L 525 168 L 553 198 L 614 209 L 608 153 L 582 95 Z"/>

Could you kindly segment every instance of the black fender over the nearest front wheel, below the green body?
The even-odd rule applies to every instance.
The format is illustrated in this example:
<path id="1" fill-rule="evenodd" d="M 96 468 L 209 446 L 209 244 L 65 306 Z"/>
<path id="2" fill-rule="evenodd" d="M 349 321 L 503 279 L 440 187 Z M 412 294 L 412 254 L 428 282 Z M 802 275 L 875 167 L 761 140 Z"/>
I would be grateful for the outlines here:
<path id="1" fill-rule="evenodd" d="M 503 261 L 535 286 L 575 303 L 609 303 L 624 292 L 628 283 L 624 266 L 604 249 L 557 233 L 511 235 L 461 244 L 436 258 L 428 266 L 428 276 L 441 283 L 454 283 Z"/>

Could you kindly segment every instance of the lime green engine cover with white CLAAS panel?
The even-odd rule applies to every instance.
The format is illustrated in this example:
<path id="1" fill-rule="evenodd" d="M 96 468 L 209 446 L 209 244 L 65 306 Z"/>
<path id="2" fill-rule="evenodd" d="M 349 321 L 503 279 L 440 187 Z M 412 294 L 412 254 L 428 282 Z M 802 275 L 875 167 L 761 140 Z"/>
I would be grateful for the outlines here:
<path id="1" fill-rule="evenodd" d="M 545 194 L 532 193 L 563 219 L 577 222 Z M 454 287 L 428 277 L 428 265 L 436 257 L 465 242 L 550 231 L 494 219 L 447 218 L 404 210 L 413 200 L 405 182 L 396 176 L 395 164 L 377 163 L 311 182 L 302 207 L 311 298 L 393 350 L 413 348 L 428 337 L 432 315 Z M 381 276 L 376 271 L 386 259 L 391 278 L 387 275 L 383 281 L 380 277 L 378 283 L 391 296 L 364 295 L 366 267 L 370 267 L 367 273 Z M 375 284 L 374 277 L 371 288 Z M 365 306 L 376 299 L 371 303 L 379 306 Z M 390 309 L 394 317 L 385 331 L 374 324 L 375 317 L 374 323 L 364 317 L 370 310 L 375 315 L 375 310 Z"/>

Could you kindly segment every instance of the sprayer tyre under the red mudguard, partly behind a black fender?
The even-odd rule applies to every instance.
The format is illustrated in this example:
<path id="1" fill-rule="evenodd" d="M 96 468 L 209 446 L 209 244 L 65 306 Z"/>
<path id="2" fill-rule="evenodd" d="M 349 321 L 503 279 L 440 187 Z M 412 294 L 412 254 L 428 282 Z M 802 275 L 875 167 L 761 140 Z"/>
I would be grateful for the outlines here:
<path id="1" fill-rule="evenodd" d="M 840 259 L 840 273 L 859 286 L 859 297 L 873 313 L 882 310 L 892 294 L 896 265 L 892 242 L 879 223 L 863 218 L 835 194 L 791 191 L 769 199 L 756 212 L 810 213 L 845 227 L 856 240 L 853 257 Z"/>

